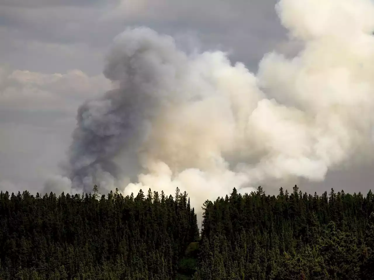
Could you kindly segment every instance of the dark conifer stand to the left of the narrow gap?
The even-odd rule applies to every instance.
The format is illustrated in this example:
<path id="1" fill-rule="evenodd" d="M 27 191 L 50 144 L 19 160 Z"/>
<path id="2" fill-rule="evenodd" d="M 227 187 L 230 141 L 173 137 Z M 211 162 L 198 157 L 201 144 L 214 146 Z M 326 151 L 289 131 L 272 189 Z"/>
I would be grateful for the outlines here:
<path id="1" fill-rule="evenodd" d="M 198 238 L 187 194 L 0 193 L 0 279 L 175 279 Z"/>

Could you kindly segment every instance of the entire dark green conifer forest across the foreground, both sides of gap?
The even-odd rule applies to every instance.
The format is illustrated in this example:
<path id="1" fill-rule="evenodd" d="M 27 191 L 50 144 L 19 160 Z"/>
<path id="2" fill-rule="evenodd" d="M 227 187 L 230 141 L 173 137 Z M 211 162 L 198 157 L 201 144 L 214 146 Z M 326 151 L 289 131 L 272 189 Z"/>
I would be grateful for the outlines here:
<path id="1" fill-rule="evenodd" d="M 0 193 L 0 279 L 374 279 L 374 195 Z"/>

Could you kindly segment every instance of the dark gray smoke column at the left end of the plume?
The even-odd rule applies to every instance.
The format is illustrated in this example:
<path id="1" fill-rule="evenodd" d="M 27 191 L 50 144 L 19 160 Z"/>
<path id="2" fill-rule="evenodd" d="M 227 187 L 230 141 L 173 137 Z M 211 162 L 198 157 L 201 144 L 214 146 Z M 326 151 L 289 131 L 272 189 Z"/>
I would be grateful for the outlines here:
<path id="1" fill-rule="evenodd" d="M 170 89 L 186 64 L 172 38 L 151 29 L 128 29 L 115 38 L 104 75 L 118 88 L 78 110 L 68 168 L 74 189 L 113 188 L 113 157 L 130 146 L 137 149 L 149 130 L 147 120 L 178 100 Z"/>

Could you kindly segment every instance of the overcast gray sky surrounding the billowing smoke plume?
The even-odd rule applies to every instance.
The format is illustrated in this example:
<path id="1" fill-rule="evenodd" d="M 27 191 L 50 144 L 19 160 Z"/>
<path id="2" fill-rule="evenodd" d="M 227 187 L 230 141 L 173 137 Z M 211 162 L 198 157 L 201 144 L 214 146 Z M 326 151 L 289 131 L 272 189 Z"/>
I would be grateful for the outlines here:
<path id="1" fill-rule="evenodd" d="M 264 53 L 297 53 L 275 0 L 0 1 L 0 190 L 43 192 L 71 143 L 77 108 L 110 88 L 102 74 L 113 38 L 146 26 L 186 51 L 222 50 L 257 71 Z M 371 165 L 329 171 L 308 192 L 370 189 Z M 292 186 L 290 186 L 292 188 Z M 56 189 L 60 192 L 61 189 Z"/>

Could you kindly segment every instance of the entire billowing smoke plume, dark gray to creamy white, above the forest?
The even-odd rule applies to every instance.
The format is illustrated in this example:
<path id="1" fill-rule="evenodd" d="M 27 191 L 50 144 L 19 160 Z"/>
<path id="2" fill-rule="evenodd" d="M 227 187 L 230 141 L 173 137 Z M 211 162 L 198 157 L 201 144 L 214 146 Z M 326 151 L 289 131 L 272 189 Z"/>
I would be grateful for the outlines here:
<path id="1" fill-rule="evenodd" d="M 281 0 L 276 9 L 304 48 L 292 59 L 266 54 L 257 74 L 222 52 L 187 55 L 151 29 L 116 37 L 104 70 L 114 89 L 78 111 L 73 187 L 179 187 L 198 206 L 233 187 L 323 180 L 370 159 L 374 4 Z"/>

